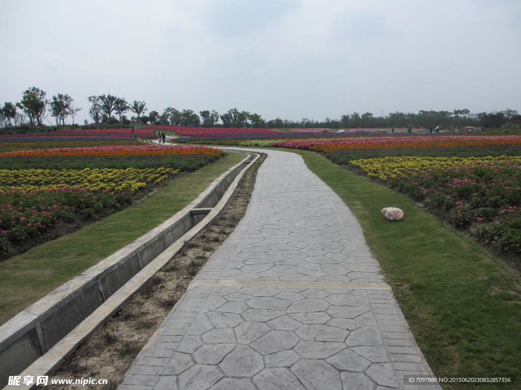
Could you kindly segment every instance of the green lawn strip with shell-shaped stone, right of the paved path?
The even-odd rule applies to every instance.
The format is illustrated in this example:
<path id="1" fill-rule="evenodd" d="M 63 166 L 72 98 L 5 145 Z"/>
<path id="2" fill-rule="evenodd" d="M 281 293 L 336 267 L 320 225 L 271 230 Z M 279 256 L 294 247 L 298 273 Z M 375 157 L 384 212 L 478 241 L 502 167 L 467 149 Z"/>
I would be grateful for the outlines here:
<path id="1" fill-rule="evenodd" d="M 515 275 L 477 244 L 419 209 L 410 198 L 333 164 L 300 154 L 307 167 L 349 206 L 437 376 L 517 376 L 521 380 L 521 289 Z M 380 210 L 399 207 L 387 221 Z M 519 388 L 516 384 L 443 388 Z"/>

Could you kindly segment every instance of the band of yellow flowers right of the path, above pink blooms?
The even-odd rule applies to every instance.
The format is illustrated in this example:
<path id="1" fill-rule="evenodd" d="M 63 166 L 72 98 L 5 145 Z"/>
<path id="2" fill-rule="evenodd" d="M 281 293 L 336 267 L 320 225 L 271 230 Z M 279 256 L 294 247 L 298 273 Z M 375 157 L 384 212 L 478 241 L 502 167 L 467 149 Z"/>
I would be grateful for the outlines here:
<path id="1" fill-rule="evenodd" d="M 350 164 L 362 169 L 368 176 L 388 180 L 395 176 L 430 172 L 457 165 L 521 164 L 521 156 L 500 157 L 384 157 L 381 159 L 353 160 Z"/>

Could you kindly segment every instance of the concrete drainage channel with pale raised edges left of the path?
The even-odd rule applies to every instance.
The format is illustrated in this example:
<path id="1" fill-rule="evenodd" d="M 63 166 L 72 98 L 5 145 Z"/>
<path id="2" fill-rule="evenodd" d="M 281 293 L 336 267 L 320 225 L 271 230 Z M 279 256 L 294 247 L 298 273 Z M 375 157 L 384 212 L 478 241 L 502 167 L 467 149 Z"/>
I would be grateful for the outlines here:
<path id="1" fill-rule="evenodd" d="M 219 213 L 245 168 L 259 158 L 256 153 L 246 154 L 243 161 L 219 176 L 197 199 L 163 224 L 3 324 L 0 386 L 5 386 L 4 390 L 16 389 L 19 386 L 8 385 L 9 376 L 46 375 L 59 367 L 64 357 L 114 315 L 185 241 Z"/>

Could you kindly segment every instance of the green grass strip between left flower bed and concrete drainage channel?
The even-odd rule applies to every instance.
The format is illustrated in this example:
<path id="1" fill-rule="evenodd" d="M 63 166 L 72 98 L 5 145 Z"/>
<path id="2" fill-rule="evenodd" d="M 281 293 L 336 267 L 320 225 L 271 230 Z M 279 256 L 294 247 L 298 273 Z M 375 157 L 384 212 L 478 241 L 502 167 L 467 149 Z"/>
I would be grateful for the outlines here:
<path id="1" fill-rule="evenodd" d="M 228 153 L 126 210 L 0 262 L 0 324 L 182 210 L 244 157 Z"/>

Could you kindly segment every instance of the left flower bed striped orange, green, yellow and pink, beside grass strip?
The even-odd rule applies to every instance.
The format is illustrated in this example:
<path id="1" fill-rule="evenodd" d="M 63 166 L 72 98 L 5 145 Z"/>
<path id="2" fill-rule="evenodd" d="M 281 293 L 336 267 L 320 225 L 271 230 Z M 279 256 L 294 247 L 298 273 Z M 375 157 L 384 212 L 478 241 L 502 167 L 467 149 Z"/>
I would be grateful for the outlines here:
<path id="1" fill-rule="evenodd" d="M 0 153 L 0 249 L 57 223 L 128 204 L 140 191 L 195 170 L 224 152 L 203 146 L 104 146 Z M 71 167 L 72 166 L 72 167 Z"/>

